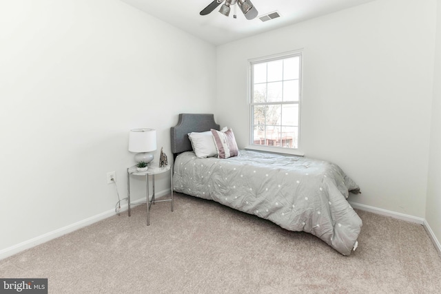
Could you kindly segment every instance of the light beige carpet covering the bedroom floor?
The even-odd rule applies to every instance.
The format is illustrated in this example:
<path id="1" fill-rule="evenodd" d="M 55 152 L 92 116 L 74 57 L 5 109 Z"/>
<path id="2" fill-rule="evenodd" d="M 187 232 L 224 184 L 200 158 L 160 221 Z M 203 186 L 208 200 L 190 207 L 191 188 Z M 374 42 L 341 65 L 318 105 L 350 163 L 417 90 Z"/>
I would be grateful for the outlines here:
<path id="1" fill-rule="evenodd" d="M 349 257 L 216 202 L 175 194 L 0 261 L 0 277 L 47 277 L 49 293 L 441 293 L 424 228 L 358 211 Z"/>

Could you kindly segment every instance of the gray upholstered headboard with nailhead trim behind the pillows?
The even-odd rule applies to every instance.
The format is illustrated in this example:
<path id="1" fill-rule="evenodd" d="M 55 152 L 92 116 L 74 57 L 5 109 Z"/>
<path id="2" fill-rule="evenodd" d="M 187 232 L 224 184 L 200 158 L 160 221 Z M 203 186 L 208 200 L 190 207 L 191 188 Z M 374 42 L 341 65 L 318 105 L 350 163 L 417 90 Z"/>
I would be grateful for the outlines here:
<path id="1" fill-rule="evenodd" d="M 170 128 L 174 156 L 181 152 L 192 151 L 188 133 L 205 132 L 210 129 L 220 129 L 220 125 L 214 121 L 214 114 L 179 114 L 178 124 Z"/>

